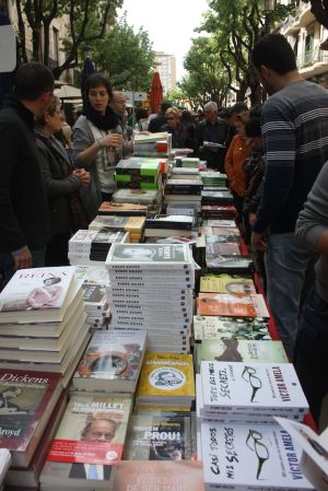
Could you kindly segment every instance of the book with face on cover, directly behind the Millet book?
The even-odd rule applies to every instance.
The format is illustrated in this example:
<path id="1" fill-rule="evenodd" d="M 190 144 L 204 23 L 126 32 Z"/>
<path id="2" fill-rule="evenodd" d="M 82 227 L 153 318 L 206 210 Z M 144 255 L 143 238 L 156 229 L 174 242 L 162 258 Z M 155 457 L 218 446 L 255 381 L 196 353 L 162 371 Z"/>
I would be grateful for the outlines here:
<path id="1" fill-rule="evenodd" d="M 145 331 L 94 334 L 73 376 L 73 389 L 134 393 L 145 342 Z"/>

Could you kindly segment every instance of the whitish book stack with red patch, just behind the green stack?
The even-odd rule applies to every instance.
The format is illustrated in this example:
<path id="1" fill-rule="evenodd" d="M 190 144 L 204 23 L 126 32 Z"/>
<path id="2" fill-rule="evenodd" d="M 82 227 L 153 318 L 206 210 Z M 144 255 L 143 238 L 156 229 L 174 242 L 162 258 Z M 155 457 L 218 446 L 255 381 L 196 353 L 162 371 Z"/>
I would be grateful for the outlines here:
<path id="1" fill-rule="evenodd" d="M 172 135 L 167 131 L 134 135 L 133 155 L 143 157 L 168 157 L 172 152 Z"/>

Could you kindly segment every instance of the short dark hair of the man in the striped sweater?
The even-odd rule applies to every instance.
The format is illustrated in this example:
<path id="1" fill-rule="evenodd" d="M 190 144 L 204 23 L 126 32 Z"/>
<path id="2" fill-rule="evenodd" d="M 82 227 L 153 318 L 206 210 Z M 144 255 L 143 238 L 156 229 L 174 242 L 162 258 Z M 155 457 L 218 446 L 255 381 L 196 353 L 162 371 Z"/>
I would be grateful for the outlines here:
<path id="1" fill-rule="evenodd" d="M 251 61 L 256 69 L 262 65 L 280 75 L 296 70 L 292 46 L 282 34 L 267 34 L 254 47 Z"/>

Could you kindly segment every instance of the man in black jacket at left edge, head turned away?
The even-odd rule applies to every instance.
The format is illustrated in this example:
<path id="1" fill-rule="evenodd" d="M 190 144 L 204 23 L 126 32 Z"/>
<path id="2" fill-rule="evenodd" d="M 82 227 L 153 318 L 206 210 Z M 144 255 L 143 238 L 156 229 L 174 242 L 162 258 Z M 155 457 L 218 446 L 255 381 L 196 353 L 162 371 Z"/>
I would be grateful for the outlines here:
<path id="1" fill-rule="evenodd" d="M 50 225 L 33 129 L 54 84 L 44 65 L 22 65 L 14 94 L 0 112 L 0 267 L 5 280 L 16 269 L 44 266 Z"/>

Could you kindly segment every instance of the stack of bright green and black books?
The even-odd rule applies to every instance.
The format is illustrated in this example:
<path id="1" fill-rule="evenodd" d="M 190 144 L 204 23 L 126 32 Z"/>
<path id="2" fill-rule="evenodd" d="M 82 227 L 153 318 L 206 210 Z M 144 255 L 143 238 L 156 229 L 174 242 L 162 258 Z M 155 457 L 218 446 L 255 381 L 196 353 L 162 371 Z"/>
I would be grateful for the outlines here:
<path id="1" fill-rule="evenodd" d="M 166 159 L 161 161 L 132 156 L 119 161 L 115 167 L 117 188 L 159 189 L 162 186 L 162 167 L 166 167 Z"/>

